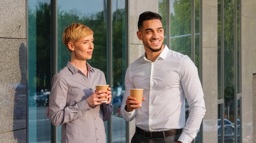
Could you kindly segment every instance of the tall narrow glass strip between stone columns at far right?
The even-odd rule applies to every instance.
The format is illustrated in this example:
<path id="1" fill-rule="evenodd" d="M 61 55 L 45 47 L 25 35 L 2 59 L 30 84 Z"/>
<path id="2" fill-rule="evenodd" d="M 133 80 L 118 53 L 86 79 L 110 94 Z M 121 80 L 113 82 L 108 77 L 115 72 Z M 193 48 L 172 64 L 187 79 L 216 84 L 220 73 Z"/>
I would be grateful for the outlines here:
<path id="1" fill-rule="evenodd" d="M 240 143 L 239 0 L 218 0 L 218 142 Z M 240 97 L 240 98 L 239 98 Z"/>

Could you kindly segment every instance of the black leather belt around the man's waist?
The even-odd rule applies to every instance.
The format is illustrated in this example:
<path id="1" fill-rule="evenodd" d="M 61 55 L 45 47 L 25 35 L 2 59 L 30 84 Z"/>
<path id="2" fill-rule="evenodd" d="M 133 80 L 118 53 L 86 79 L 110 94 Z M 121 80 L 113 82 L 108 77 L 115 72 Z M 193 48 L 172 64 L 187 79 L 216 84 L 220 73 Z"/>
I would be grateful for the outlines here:
<path id="1" fill-rule="evenodd" d="M 137 130 L 138 134 L 141 134 L 147 138 L 161 138 L 164 136 L 169 137 L 169 136 L 174 136 L 176 134 L 182 133 L 182 129 L 171 129 L 171 130 L 160 131 L 160 132 L 147 132 L 147 131 L 141 130 L 140 128 L 136 127 L 136 130 Z"/>

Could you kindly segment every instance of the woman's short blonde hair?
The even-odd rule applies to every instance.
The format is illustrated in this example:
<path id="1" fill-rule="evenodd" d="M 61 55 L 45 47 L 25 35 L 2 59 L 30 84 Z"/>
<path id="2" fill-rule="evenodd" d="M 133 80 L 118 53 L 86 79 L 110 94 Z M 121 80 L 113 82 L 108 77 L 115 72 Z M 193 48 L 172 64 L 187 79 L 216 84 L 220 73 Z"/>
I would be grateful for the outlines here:
<path id="1" fill-rule="evenodd" d="M 73 23 L 70 26 L 65 28 L 63 35 L 62 35 L 62 42 L 67 47 L 67 49 L 71 52 L 68 48 L 68 42 L 78 42 L 81 38 L 93 35 L 92 29 L 88 26 L 85 26 L 81 23 Z"/>

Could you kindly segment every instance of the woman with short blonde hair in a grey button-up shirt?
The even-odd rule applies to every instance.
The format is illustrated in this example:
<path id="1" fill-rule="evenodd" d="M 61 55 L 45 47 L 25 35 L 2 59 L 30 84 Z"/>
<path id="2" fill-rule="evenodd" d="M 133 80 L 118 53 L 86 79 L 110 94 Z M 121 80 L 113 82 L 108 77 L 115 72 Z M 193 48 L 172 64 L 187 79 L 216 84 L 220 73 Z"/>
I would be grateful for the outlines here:
<path id="1" fill-rule="evenodd" d="M 106 143 L 103 121 L 112 114 L 111 89 L 95 91 L 95 85 L 106 85 L 99 69 L 86 60 L 92 58 L 93 31 L 80 23 L 68 26 L 63 43 L 71 60 L 52 78 L 49 115 L 54 126 L 62 125 L 61 143 Z M 106 96 L 106 98 L 101 98 Z M 100 103 L 107 101 L 106 103 Z"/>

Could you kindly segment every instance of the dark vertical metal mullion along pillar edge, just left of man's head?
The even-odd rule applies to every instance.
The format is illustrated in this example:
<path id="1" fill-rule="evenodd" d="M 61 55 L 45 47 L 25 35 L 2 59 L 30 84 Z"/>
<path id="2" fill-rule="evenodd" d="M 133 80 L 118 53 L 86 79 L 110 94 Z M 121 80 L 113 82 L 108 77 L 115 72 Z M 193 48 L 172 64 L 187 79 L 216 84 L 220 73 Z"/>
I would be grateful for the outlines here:
<path id="1" fill-rule="evenodd" d="M 125 11 L 125 14 L 126 14 L 126 22 L 125 22 L 125 24 L 126 24 L 126 68 L 130 65 L 130 58 L 129 58 L 129 53 L 130 53 L 130 50 L 129 50 L 129 47 L 130 47 L 130 26 L 129 26 L 129 20 L 130 20 L 130 18 L 129 18 L 129 16 L 130 16 L 130 14 L 129 14 L 129 12 L 130 12 L 130 10 L 129 10 L 129 4 L 130 4 L 130 2 L 129 2 L 129 0 L 126 0 L 125 1 L 125 9 L 126 9 L 126 11 Z M 129 122 L 128 121 L 126 121 L 126 143 L 130 143 L 130 127 L 129 127 Z"/>

